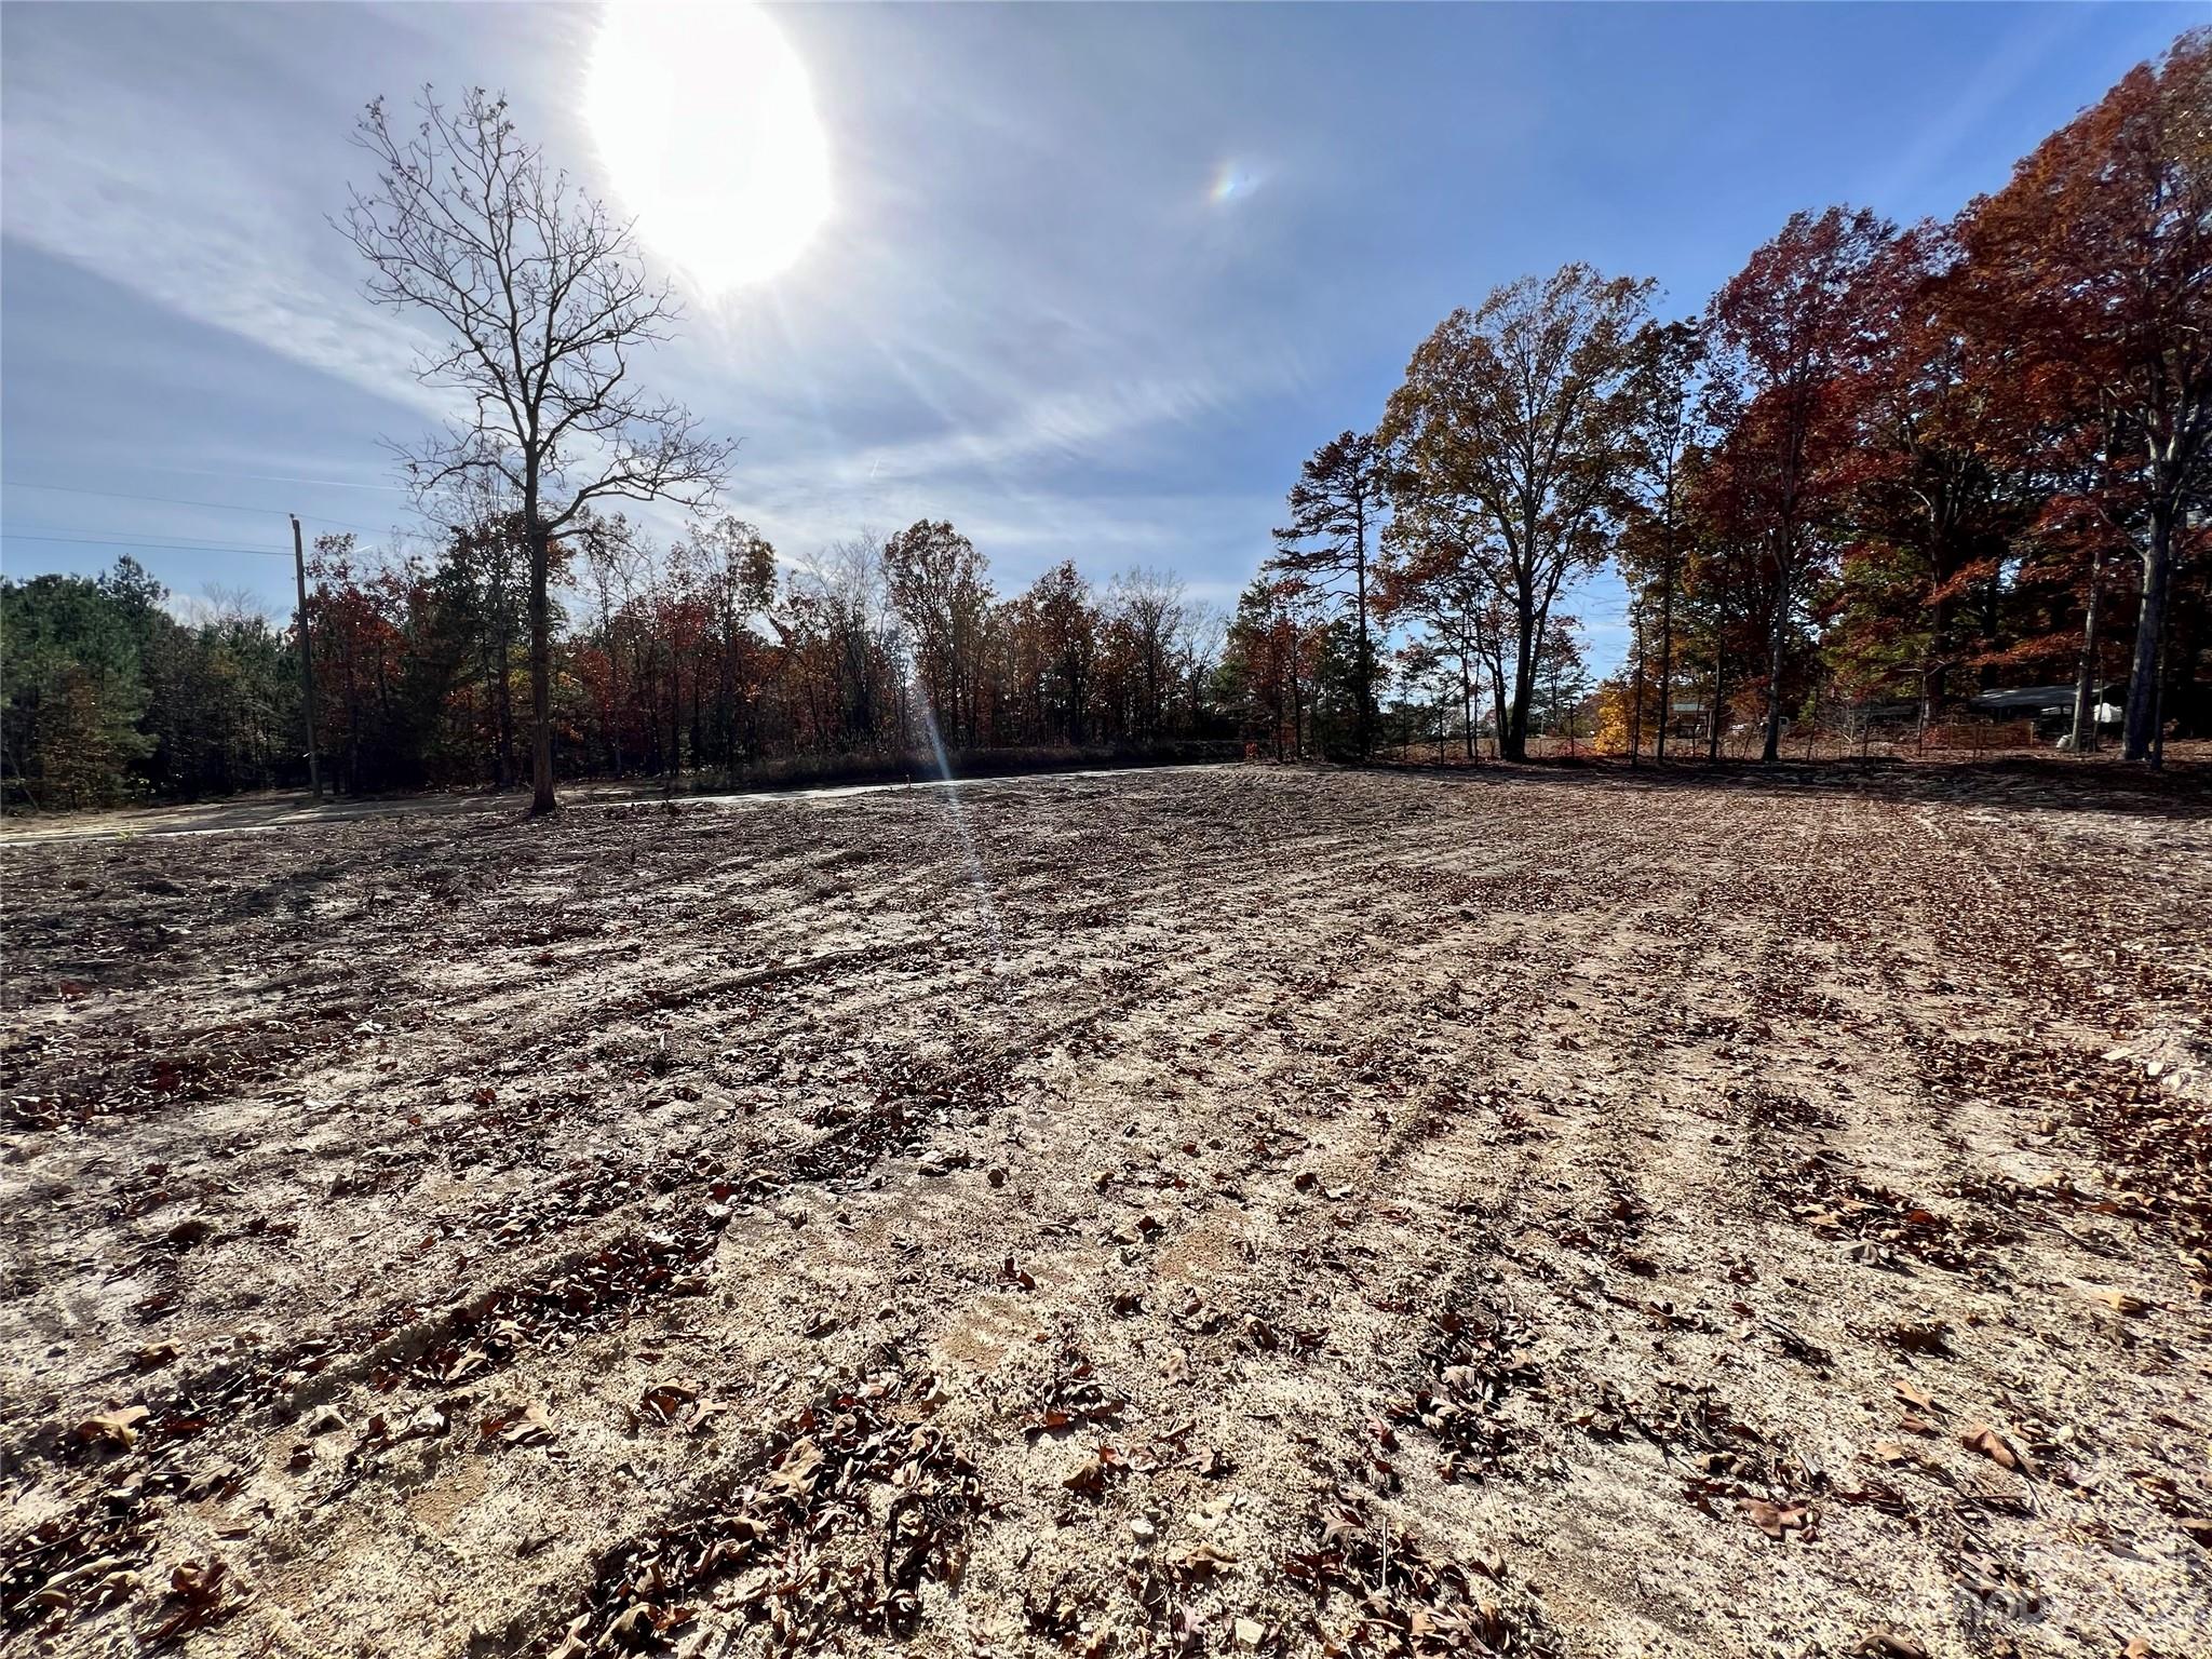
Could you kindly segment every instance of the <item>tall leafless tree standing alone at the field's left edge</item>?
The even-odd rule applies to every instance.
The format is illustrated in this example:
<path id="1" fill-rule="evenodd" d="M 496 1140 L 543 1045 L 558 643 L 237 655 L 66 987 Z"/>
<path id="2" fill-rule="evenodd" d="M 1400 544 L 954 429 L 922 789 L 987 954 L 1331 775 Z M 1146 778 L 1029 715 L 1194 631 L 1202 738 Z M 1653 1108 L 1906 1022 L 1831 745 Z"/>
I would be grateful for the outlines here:
<path id="1" fill-rule="evenodd" d="M 369 261 L 378 305 L 427 312 L 445 338 L 416 365 L 469 411 L 403 447 L 418 498 L 467 476 L 515 495 L 531 560 L 531 812 L 551 812 L 553 717 L 546 584 L 555 538 L 595 500 L 706 509 L 734 442 L 630 383 L 630 358 L 670 338 L 681 310 L 653 281 L 628 223 L 515 137 L 507 100 L 469 88 L 394 126 L 383 100 L 356 142 L 376 186 L 352 190 L 341 230 Z"/>

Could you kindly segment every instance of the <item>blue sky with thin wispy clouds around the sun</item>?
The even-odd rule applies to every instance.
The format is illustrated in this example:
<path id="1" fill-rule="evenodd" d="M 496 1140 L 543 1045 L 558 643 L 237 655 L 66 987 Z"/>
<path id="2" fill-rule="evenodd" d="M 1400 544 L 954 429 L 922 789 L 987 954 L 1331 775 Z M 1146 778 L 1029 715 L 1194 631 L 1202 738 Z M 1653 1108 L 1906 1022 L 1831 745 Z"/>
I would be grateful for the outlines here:
<path id="1" fill-rule="evenodd" d="M 741 438 L 805 560 L 951 518 L 1228 604 L 1298 460 L 1413 345 L 1586 259 L 1694 310 L 1794 208 L 1949 215 L 2205 7 L 776 7 L 832 212 L 692 294 L 653 385 Z M 0 566 L 135 546 L 290 608 L 310 535 L 411 515 L 440 409 L 327 226 L 374 95 L 504 88 L 593 188 L 597 7 L 0 9 Z M 1237 188 L 1219 190 L 1221 179 Z M 95 493 L 97 491 L 97 493 Z M 161 500 L 139 500 L 161 498 Z M 38 538 L 38 540 L 33 540 Z M 1599 661 L 1610 584 L 1582 595 Z"/>

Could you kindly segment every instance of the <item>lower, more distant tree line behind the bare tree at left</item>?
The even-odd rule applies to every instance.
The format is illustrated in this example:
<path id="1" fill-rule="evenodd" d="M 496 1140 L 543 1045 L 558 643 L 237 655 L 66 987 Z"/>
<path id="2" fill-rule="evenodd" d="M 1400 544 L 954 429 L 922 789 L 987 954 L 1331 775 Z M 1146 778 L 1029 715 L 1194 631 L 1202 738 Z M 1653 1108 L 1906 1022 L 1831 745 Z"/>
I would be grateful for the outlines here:
<path id="1" fill-rule="evenodd" d="M 531 781 L 531 551 L 515 515 L 434 553 L 325 535 L 307 557 L 314 732 L 347 794 Z M 951 524 L 779 566 L 706 520 L 619 515 L 549 551 L 557 776 L 737 779 L 779 761 L 936 765 L 975 750 L 1228 741 L 1223 617 L 1168 573 L 1060 564 L 1002 595 Z M 305 783 L 296 635 L 246 604 L 179 617 L 131 557 L 0 582 L 9 792 L 40 807 Z M 821 770 L 834 770 L 823 765 Z"/>

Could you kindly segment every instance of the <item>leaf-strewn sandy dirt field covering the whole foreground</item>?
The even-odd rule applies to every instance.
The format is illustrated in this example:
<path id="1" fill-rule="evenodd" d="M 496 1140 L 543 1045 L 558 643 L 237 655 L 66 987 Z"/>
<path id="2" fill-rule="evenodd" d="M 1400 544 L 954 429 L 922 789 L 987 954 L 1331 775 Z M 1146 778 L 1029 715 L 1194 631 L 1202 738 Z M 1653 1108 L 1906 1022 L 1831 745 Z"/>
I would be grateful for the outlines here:
<path id="1" fill-rule="evenodd" d="M 0 880 L 0 1648 L 2212 1652 L 2201 781 L 1214 768 Z"/>

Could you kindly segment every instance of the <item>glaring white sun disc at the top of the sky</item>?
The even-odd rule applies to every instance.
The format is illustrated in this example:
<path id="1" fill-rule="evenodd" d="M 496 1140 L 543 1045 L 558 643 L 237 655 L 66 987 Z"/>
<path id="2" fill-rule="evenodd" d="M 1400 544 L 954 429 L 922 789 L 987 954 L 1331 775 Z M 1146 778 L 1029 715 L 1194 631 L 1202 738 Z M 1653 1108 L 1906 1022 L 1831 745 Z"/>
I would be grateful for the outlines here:
<path id="1" fill-rule="evenodd" d="M 584 88 L 637 232 L 708 292 L 790 265 L 830 215 L 807 69 L 750 4 L 611 4 Z"/>

